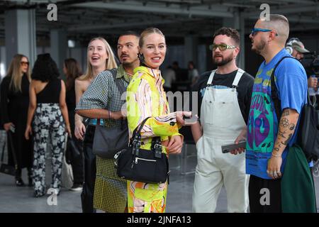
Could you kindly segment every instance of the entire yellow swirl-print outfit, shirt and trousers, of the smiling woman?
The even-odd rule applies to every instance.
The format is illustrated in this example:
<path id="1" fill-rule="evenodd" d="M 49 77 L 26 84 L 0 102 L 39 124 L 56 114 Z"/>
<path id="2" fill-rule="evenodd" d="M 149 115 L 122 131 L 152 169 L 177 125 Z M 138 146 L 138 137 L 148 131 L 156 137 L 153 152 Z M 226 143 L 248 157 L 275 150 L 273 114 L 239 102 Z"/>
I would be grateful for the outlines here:
<path id="1" fill-rule="evenodd" d="M 140 148 L 150 150 L 152 137 L 160 136 L 168 140 L 169 136 L 179 134 L 176 113 L 169 113 L 169 105 L 163 89 L 164 79 L 159 70 L 148 67 L 137 67 L 128 85 L 127 110 L 130 138 L 140 123 L 147 119 L 142 128 L 142 145 Z M 164 146 L 162 152 L 166 153 Z M 128 181 L 128 212 L 165 211 L 167 182 L 163 184 L 147 184 Z"/>

